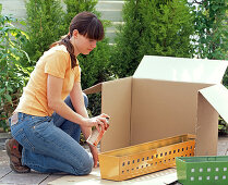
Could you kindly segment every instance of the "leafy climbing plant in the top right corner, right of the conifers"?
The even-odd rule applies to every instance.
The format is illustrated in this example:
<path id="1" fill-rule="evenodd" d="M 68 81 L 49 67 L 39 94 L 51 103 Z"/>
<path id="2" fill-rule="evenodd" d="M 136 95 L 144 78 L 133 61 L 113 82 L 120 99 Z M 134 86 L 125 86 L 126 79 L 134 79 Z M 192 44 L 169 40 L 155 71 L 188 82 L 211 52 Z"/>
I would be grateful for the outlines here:
<path id="1" fill-rule="evenodd" d="M 201 59 L 228 59 L 227 0 L 191 3 L 195 13 L 195 54 Z"/>

